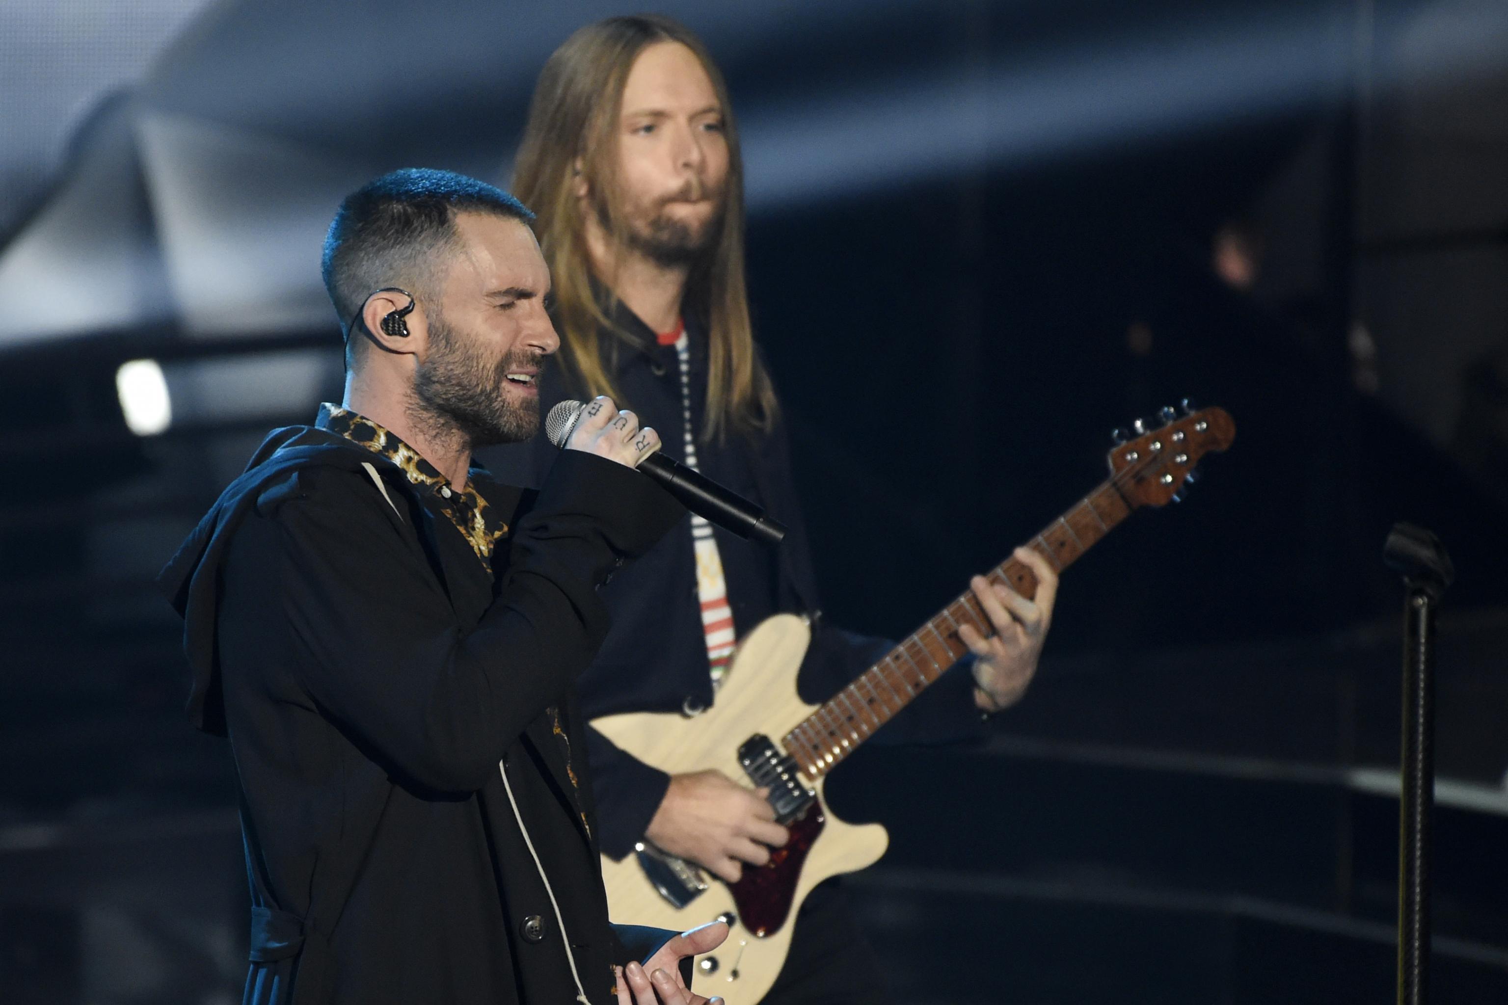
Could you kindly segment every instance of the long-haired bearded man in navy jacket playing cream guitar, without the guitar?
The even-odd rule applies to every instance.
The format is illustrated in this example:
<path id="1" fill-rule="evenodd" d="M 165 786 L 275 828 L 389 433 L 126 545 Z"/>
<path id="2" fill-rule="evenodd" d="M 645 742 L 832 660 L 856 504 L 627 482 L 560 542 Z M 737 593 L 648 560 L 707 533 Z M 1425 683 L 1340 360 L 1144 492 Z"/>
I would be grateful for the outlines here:
<path id="1" fill-rule="evenodd" d="M 587 717 L 695 716 L 715 701 L 740 633 L 817 603 L 786 429 L 749 324 L 737 128 L 706 47 L 659 17 L 576 32 L 540 75 L 513 187 L 537 214 L 555 283 L 559 368 L 541 377 L 541 408 L 609 395 L 662 432 L 667 454 L 790 526 L 777 551 L 691 518 L 603 588 L 614 627 L 579 683 Z M 483 458 L 504 481 L 538 484 L 555 454 L 535 438 Z M 1021 698 L 1057 576 L 1034 551 L 1016 556 L 1036 574 L 1036 600 L 974 577 L 994 636 L 962 630 L 971 666 L 891 723 L 893 738 L 968 737 L 980 711 Z M 802 692 L 825 699 L 888 648 L 819 622 Z M 734 881 L 786 842 L 769 803 L 721 773 L 668 776 L 596 731 L 587 746 L 602 848 L 612 857 L 647 838 Z M 766 1000 L 887 997 L 873 951 L 831 887 L 805 901 Z"/>

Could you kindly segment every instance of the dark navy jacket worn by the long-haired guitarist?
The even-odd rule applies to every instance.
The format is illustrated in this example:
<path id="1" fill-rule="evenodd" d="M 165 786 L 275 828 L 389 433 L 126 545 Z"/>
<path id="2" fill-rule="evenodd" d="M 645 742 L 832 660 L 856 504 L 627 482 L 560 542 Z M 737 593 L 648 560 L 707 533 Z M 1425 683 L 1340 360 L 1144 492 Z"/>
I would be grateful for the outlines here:
<path id="1" fill-rule="evenodd" d="M 659 345 L 648 327 L 626 309 L 620 307 L 615 319 L 632 336 L 632 342 L 626 342 L 602 333 L 621 398 L 618 407 L 632 408 L 641 425 L 653 426 L 661 434 L 665 454 L 683 460 L 685 422 L 676 348 Z M 722 441 L 701 441 L 706 338 L 695 318 L 686 318 L 686 330 L 698 467 L 713 481 L 763 505 L 789 529 L 784 542 L 769 548 L 715 527 L 734 631 L 742 639 L 774 613 L 819 612 L 811 547 L 796 499 L 790 443 L 783 423 L 763 435 L 730 432 Z M 582 396 L 584 392 L 572 386 L 559 366 L 544 371 L 541 411 L 564 398 Z M 502 481 L 538 485 L 558 454 L 538 435 L 528 443 L 481 451 L 480 457 Z M 588 720 L 623 711 L 700 710 L 712 704 L 689 520 L 689 515 L 685 517 L 648 554 L 602 591 L 612 612 L 612 630 L 578 684 Z M 875 547 L 894 548 L 897 544 L 876 541 Z M 802 698 L 808 702 L 826 701 L 888 652 L 891 645 L 819 619 L 801 669 Z M 878 738 L 884 743 L 914 743 L 979 737 L 983 728 L 971 692 L 973 680 L 967 669 L 959 667 L 887 725 Z M 597 790 L 602 847 L 609 856 L 621 859 L 644 836 L 665 797 L 670 777 L 629 756 L 590 726 L 587 749 Z"/>

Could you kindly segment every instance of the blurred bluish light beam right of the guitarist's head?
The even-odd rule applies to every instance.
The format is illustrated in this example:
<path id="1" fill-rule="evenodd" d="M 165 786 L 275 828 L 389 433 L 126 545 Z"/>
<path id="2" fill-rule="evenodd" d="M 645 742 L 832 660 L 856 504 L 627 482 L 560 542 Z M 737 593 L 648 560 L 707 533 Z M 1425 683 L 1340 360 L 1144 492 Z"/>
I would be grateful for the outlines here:
<path id="1" fill-rule="evenodd" d="M 1508 5 L 1378 18 L 1395 48 L 1368 65 L 1377 95 L 1500 74 Z M 959 172 L 1042 166 L 1243 121 L 1338 108 L 1354 95 L 1354 26 L 1324 5 L 1176 29 L 1095 35 L 977 68 L 923 66 L 793 92 L 739 116 L 751 212 L 888 190 Z"/>

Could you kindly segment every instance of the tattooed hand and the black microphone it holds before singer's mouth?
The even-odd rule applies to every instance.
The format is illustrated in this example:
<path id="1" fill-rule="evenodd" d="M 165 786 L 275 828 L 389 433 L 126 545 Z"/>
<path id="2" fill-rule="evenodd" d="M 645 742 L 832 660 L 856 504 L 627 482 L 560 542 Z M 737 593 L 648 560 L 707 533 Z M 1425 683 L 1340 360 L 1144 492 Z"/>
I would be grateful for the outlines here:
<path id="1" fill-rule="evenodd" d="M 664 485 L 686 509 L 740 538 L 775 545 L 786 536 L 786 527 L 766 517 L 763 508 L 661 454 L 654 429 L 639 429 L 638 417 L 632 411 L 615 411 L 609 398 L 594 398 L 587 404 L 559 402 L 544 419 L 544 435 L 558 448 L 587 451 L 636 467 Z"/>

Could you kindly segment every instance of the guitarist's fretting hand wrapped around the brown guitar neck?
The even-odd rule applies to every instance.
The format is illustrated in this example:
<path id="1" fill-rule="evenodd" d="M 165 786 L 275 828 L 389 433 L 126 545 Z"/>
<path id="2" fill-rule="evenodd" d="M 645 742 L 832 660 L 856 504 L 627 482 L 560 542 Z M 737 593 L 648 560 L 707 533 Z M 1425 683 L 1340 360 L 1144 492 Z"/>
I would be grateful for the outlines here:
<path id="1" fill-rule="evenodd" d="M 958 637 L 979 657 L 974 663 L 974 704 L 983 711 L 1000 711 L 1021 701 L 1053 624 L 1057 573 L 1031 548 L 1016 548 L 1015 557 L 1036 576 L 1036 600 L 1027 600 L 1009 586 L 991 586 L 983 576 L 976 576 L 970 586 L 995 634 L 980 637 L 973 625 L 958 630 Z"/>

